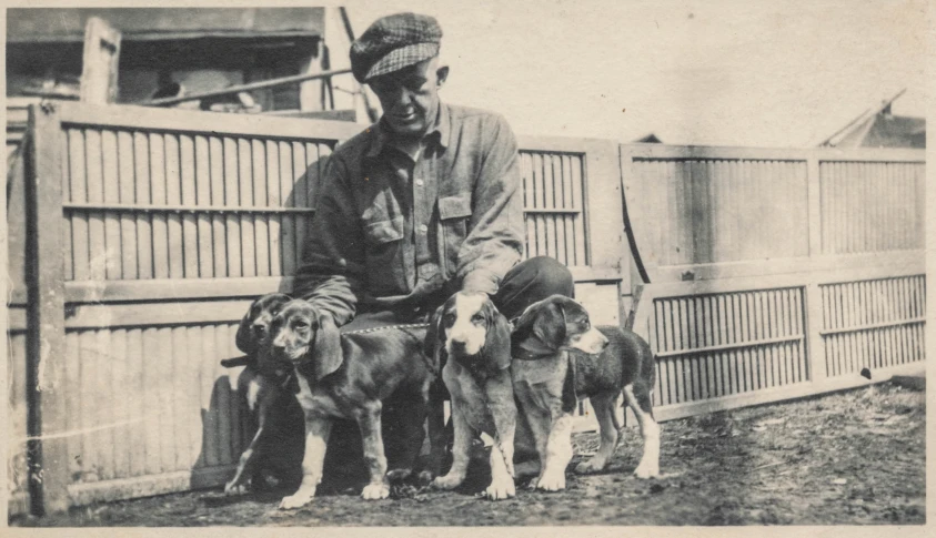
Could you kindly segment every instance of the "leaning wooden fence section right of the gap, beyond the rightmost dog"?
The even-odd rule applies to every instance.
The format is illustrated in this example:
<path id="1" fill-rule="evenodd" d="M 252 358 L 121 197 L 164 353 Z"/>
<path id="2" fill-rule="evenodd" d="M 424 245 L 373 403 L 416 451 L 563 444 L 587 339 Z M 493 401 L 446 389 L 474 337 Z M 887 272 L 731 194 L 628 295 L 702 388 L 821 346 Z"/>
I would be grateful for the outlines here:
<path id="1" fill-rule="evenodd" d="M 621 166 L 662 419 L 923 369 L 923 151 L 622 145 Z"/>

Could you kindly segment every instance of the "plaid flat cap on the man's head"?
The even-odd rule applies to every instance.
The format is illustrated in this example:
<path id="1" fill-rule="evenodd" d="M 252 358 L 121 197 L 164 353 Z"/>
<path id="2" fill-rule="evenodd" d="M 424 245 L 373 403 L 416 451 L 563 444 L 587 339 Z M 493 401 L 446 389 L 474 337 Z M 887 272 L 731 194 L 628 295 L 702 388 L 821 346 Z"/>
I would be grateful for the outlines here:
<path id="1" fill-rule="evenodd" d="M 351 72 L 358 82 L 399 71 L 439 54 L 442 28 L 429 16 L 396 13 L 374 21 L 351 43 Z"/>

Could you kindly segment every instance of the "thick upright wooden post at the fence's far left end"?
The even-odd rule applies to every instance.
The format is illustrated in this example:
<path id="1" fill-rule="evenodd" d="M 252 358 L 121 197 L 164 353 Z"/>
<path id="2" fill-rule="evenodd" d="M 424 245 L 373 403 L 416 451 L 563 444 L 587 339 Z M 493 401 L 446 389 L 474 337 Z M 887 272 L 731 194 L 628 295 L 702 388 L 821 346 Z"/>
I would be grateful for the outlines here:
<path id="1" fill-rule="evenodd" d="M 54 104 L 29 108 L 27 161 L 27 398 L 30 511 L 69 508 L 66 430 L 61 122 Z"/>

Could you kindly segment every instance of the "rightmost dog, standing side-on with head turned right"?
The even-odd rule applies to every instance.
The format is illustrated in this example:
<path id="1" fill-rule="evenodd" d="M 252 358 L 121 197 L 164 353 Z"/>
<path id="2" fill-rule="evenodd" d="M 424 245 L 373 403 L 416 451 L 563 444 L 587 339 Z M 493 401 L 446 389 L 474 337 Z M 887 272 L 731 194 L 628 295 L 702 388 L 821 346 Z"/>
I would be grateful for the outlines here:
<path id="1" fill-rule="evenodd" d="M 525 419 L 517 437 L 532 437 L 540 460 L 533 487 L 565 488 L 565 468 L 572 459 L 572 412 L 577 398 L 587 397 L 592 403 L 601 446 L 576 471 L 604 469 L 623 434 L 615 414 L 622 392 L 644 440 L 634 475 L 658 476 L 660 426 L 651 404 L 656 372 L 653 352 L 643 338 L 615 326 L 594 327 L 580 303 L 553 295 L 524 311 L 511 342 L 514 394 Z"/>

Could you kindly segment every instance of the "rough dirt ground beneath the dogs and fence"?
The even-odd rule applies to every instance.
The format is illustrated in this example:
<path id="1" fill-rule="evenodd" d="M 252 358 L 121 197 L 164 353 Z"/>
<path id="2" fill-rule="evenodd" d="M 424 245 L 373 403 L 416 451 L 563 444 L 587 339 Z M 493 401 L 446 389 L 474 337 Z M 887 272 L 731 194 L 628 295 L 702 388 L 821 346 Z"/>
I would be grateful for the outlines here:
<path id="1" fill-rule="evenodd" d="M 633 471 L 641 443 L 628 430 L 610 469 L 570 474 L 558 494 L 519 490 L 492 503 L 480 489 L 404 490 L 396 499 L 316 497 L 298 511 L 282 494 L 220 490 L 83 507 L 14 519 L 18 526 L 515 526 L 860 525 L 925 522 L 924 393 L 884 384 L 808 400 L 664 423 L 660 479 Z M 576 457 L 596 434 L 575 436 Z"/>

